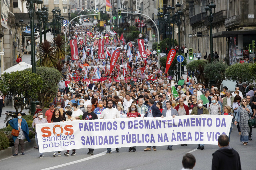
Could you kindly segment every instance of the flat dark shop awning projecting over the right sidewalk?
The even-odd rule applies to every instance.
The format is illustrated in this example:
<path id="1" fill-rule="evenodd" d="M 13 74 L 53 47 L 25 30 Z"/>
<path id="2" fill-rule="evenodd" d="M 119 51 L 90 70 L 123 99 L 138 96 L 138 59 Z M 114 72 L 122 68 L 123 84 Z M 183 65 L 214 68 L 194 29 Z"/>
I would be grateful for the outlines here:
<path id="1" fill-rule="evenodd" d="M 212 35 L 213 38 L 219 38 L 219 37 L 235 37 L 236 35 L 241 35 L 241 34 L 256 34 L 256 30 L 241 30 L 241 31 L 221 31 L 218 33 L 215 33 Z"/>

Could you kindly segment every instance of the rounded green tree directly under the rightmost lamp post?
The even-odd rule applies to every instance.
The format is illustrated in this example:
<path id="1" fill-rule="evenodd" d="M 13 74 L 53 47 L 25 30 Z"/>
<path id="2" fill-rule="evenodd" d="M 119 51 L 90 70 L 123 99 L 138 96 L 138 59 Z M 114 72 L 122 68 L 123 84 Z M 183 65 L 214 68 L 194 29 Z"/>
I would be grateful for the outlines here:
<path id="1" fill-rule="evenodd" d="M 225 80 L 225 72 L 228 68 L 228 65 L 222 62 L 211 62 L 205 65 L 205 77 L 208 80 L 214 80 L 218 89 L 220 89 L 220 85 L 223 80 Z"/>

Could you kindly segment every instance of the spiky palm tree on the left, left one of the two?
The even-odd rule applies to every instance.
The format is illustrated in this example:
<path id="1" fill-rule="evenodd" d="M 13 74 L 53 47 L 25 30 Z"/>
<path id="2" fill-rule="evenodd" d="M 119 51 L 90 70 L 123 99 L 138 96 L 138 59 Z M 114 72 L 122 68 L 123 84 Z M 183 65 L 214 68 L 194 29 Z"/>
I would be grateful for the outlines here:
<path id="1" fill-rule="evenodd" d="M 51 46 L 49 40 L 44 40 L 44 42 L 40 43 L 37 49 L 37 58 L 42 60 L 41 66 L 45 67 L 54 67 L 57 63 L 56 58 L 56 47 Z"/>

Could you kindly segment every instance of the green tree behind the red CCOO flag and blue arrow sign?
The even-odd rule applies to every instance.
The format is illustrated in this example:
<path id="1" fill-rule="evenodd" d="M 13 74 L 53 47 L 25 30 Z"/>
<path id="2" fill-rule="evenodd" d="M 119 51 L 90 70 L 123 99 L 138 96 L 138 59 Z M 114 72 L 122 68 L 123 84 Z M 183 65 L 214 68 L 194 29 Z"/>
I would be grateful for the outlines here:
<path id="1" fill-rule="evenodd" d="M 168 54 L 167 54 L 168 55 Z M 175 55 L 175 58 L 173 59 L 173 61 L 172 61 L 172 64 L 171 64 L 171 66 L 170 66 L 170 68 L 169 68 L 169 70 L 172 70 L 173 71 L 173 73 L 174 73 L 174 76 L 176 76 L 176 81 L 178 81 L 178 64 L 179 64 L 179 62 L 177 61 L 177 56 L 178 56 L 179 54 L 176 54 Z M 182 64 L 184 64 L 184 65 L 187 65 L 187 59 L 186 59 L 186 57 L 185 57 L 185 55 L 184 54 L 181 54 L 181 55 L 183 55 L 183 57 L 184 57 L 184 61 L 182 62 Z M 167 56 L 165 56 L 165 57 L 161 57 L 160 58 L 160 66 L 161 67 L 166 67 L 166 61 L 167 61 Z M 163 72 L 165 72 L 165 70 L 163 71 Z"/>

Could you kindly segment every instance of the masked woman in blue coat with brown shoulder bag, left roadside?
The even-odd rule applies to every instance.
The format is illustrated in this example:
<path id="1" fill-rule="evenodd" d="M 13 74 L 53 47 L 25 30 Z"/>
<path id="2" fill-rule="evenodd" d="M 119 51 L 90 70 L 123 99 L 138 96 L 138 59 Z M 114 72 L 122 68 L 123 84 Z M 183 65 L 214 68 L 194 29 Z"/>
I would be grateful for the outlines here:
<path id="1" fill-rule="evenodd" d="M 13 141 L 14 141 L 14 147 L 15 147 L 15 153 L 13 154 L 14 156 L 18 155 L 18 148 L 19 144 L 21 147 L 21 154 L 24 155 L 24 150 L 25 150 L 25 139 L 27 139 L 28 142 L 30 142 L 30 139 L 28 137 L 28 125 L 25 119 L 21 118 L 21 112 L 17 113 L 17 118 L 12 119 L 9 121 L 10 126 L 14 130 L 16 130 L 16 134 L 13 133 Z"/>

